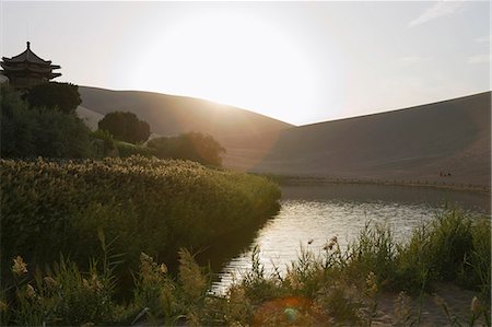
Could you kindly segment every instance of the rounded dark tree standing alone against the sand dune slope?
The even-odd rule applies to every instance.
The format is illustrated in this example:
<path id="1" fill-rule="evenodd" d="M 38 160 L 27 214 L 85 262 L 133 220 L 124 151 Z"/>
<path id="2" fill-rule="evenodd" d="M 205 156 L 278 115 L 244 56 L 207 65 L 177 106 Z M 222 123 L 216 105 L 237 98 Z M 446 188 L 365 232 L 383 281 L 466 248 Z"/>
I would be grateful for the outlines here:
<path id="1" fill-rule="evenodd" d="M 99 120 L 101 130 L 106 130 L 116 139 L 129 143 L 144 142 L 150 137 L 150 126 L 139 120 L 133 113 L 114 112 Z"/>

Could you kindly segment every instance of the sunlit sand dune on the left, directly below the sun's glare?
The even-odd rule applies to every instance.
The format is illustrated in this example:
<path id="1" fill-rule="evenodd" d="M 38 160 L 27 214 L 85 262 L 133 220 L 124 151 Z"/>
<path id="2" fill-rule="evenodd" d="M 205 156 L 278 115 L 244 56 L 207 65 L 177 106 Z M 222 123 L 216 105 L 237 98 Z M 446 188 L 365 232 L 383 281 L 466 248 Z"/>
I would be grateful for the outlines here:
<path id="1" fill-rule="evenodd" d="M 142 91 L 112 91 L 79 86 L 81 117 L 93 124 L 95 115 L 132 112 L 149 122 L 151 131 L 176 136 L 200 131 L 213 136 L 227 150 L 224 164 L 247 170 L 255 165 L 277 140 L 279 130 L 292 125 L 242 108 L 204 100 Z M 101 117 L 103 117 L 101 116 Z"/>

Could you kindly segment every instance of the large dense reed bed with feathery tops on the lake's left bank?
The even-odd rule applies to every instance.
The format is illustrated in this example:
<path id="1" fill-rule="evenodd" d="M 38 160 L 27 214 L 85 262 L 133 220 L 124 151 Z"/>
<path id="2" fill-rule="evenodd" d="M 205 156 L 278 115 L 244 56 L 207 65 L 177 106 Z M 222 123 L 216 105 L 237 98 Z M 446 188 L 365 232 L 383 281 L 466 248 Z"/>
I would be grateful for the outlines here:
<path id="1" fill-rule="evenodd" d="M 280 198 L 266 178 L 186 161 L 0 160 L 0 170 L 2 267 L 16 255 L 34 265 L 60 253 L 83 265 L 99 255 L 102 233 L 137 268 L 141 252 L 198 249 L 268 218 Z"/>

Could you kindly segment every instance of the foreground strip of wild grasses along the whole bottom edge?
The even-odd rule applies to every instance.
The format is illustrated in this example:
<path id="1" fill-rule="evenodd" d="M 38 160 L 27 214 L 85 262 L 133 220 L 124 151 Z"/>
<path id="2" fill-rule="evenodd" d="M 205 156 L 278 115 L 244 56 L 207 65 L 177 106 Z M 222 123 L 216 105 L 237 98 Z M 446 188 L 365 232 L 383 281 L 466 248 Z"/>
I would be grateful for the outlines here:
<path id="1" fill-rule="evenodd" d="M 446 211 L 415 230 L 403 244 L 396 243 L 387 229 L 367 225 L 347 252 L 340 250 L 336 237 L 321 253 L 302 249 L 284 275 L 267 273 L 259 261 L 259 249 L 255 249 L 251 269 L 231 285 L 225 296 L 208 291 L 210 272 L 199 267 L 188 250 L 178 253 L 177 275 L 142 253 L 133 296 L 127 303 L 115 301 L 110 260 L 115 257 L 99 237 L 106 255 L 99 262 L 92 260 L 87 272 L 61 258 L 54 268 L 38 270 L 32 278 L 30 265 L 21 257 L 11 262 L 14 279 L 3 285 L 1 323 L 371 326 L 380 315 L 383 292 L 390 291 L 400 292 L 393 323 L 411 326 L 421 323 L 423 308 L 422 304 L 412 306 L 408 294 L 422 295 L 434 282 L 447 281 L 477 291 L 468 314 L 461 316 L 436 297 L 449 324 L 490 326 L 489 223 L 476 222 L 459 210 Z M 465 245 L 468 247 L 457 253 L 456 248 Z"/>

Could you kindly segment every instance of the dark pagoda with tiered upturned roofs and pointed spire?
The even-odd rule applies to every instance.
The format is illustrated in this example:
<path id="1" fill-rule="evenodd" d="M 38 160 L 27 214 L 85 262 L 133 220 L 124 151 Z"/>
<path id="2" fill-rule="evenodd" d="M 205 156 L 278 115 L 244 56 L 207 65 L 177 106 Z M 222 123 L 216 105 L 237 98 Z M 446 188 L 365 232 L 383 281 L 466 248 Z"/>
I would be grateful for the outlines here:
<path id="1" fill-rule="evenodd" d="M 36 56 L 31 50 L 28 42 L 24 52 L 12 58 L 2 57 L 0 66 L 3 68 L 0 73 L 9 79 L 9 84 L 17 89 L 28 89 L 61 75 L 61 73 L 52 72 L 60 66 L 51 65 L 50 60 L 44 60 Z"/>

